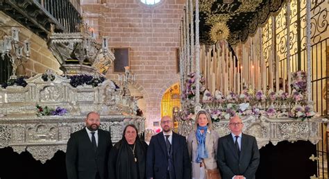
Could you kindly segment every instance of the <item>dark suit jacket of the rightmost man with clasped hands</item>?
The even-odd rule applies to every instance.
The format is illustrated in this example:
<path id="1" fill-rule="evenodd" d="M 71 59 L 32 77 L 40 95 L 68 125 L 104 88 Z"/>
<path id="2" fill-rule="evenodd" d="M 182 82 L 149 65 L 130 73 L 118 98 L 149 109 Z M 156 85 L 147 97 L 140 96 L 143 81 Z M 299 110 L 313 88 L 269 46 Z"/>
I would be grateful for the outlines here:
<path id="1" fill-rule="evenodd" d="M 246 179 L 255 178 L 259 163 L 260 152 L 255 137 L 242 134 L 240 157 L 231 134 L 219 138 L 217 164 L 223 179 L 240 175 Z"/>

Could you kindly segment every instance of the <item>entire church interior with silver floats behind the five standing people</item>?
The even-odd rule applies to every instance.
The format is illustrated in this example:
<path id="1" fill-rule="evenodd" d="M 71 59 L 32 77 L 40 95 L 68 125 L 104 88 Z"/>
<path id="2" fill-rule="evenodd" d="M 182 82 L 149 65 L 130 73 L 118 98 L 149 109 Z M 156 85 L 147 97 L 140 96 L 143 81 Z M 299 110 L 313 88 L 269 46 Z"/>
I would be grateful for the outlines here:
<path id="1" fill-rule="evenodd" d="M 89 110 L 117 142 L 127 123 L 148 140 L 165 115 L 187 135 L 201 109 L 221 136 L 233 112 L 244 117 L 260 147 L 256 178 L 328 178 L 328 8 L 0 1 L 0 178 L 67 178 L 66 142 Z"/>

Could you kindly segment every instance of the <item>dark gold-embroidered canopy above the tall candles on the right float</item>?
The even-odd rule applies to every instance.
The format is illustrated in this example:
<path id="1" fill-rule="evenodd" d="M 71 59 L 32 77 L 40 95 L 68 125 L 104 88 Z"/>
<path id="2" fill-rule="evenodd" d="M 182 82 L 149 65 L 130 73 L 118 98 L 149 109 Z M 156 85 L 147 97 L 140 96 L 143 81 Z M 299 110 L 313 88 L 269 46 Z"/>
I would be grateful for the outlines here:
<path id="1" fill-rule="evenodd" d="M 200 12 L 200 42 L 203 44 L 214 44 L 210 38 L 212 26 L 218 21 L 226 21 L 230 30 L 228 43 L 235 45 L 247 40 L 248 35 L 256 32 L 260 24 L 264 24 L 271 15 L 277 12 L 285 0 L 233 0 L 232 3 L 223 3 L 223 0 L 214 1 L 208 10 L 201 9 Z M 201 1 L 205 3 L 206 1 Z M 201 4 L 202 6 L 202 4 Z M 207 9 L 207 8 L 204 8 Z M 224 17 L 226 18 L 222 18 Z"/>

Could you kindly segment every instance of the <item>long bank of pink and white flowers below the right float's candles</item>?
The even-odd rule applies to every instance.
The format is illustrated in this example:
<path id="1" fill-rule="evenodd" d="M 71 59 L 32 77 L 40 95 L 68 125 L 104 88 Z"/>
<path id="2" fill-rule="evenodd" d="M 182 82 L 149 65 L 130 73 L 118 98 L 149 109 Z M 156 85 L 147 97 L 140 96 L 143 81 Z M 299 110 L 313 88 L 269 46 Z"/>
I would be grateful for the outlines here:
<path id="1" fill-rule="evenodd" d="M 186 99 L 193 99 L 195 96 L 195 74 L 189 74 L 186 82 L 186 90 L 183 92 L 182 100 L 187 104 L 183 106 L 183 111 L 179 118 L 183 120 L 192 119 L 194 114 L 194 104 Z M 205 82 L 202 78 L 201 82 Z M 203 84 L 202 83 L 202 84 Z M 292 117 L 304 120 L 316 115 L 312 106 L 307 104 L 305 99 L 306 74 L 304 71 L 296 71 L 292 74 L 292 93 L 288 94 L 279 90 L 274 92 L 269 89 L 267 95 L 262 90 L 254 92 L 253 89 L 244 89 L 241 94 L 230 92 L 224 96 L 219 90 L 214 92 L 214 96 L 200 86 L 203 92 L 203 109 L 210 112 L 212 121 L 230 119 L 234 115 L 239 117 L 255 115 L 256 117 L 267 116 L 272 118 Z"/>

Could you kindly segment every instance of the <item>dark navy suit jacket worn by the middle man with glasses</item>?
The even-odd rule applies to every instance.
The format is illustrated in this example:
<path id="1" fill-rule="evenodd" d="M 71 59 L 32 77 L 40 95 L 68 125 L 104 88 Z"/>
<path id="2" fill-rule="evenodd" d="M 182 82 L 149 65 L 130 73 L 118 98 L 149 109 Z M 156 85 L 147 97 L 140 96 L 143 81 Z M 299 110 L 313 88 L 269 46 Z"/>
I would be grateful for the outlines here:
<path id="1" fill-rule="evenodd" d="M 187 151 L 185 137 L 173 132 L 171 147 L 173 148 L 174 168 L 177 179 L 191 178 L 191 162 Z M 165 136 L 158 133 L 151 138 L 146 155 L 146 178 L 167 179 L 167 147 Z"/>

